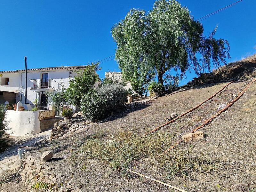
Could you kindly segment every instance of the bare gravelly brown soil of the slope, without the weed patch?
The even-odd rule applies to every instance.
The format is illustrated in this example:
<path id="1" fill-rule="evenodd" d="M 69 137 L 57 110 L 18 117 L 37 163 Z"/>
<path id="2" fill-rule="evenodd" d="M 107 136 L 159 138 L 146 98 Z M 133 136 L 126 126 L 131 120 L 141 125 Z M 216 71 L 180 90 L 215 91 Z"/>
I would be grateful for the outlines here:
<path id="1" fill-rule="evenodd" d="M 178 115 L 198 105 L 212 94 L 217 92 L 227 83 L 204 84 L 185 91 L 170 94 L 157 100 L 141 104 L 134 102 L 132 108 L 114 114 L 103 122 L 92 124 L 88 130 L 82 129 L 63 137 L 59 140 L 44 142 L 30 148 L 33 155 L 40 157 L 46 150 L 53 150 L 54 159 L 46 162 L 51 165 L 54 172 L 62 173 L 63 184 L 70 183 L 75 187 L 82 186 L 81 191 L 173 191 L 154 181 L 132 175 L 123 176 L 121 172 L 113 171 L 108 165 L 97 160 L 84 161 L 73 164 L 70 156 L 73 150 L 81 145 L 83 140 L 96 132 L 104 132 L 103 139 L 107 140 L 117 132 L 130 130 L 143 134 L 166 123 L 165 116 L 172 112 Z M 163 129 L 179 135 L 181 132 L 208 116 L 232 98 L 244 85 L 244 82 L 236 82 L 228 86 L 226 90 L 214 97 L 189 115 L 180 118 Z M 178 148 L 189 148 L 192 155 L 205 154 L 209 159 L 223 163 L 223 169 L 214 174 L 203 172 L 193 173 L 193 178 L 174 177 L 167 179 L 164 167 L 150 158 L 138 161 L 133 169 L 170 185 L 182 188 L 186 191 L 253 191 L 256 188 L 256 83 L 231 107 L 225 115 L 219 116 L 214 122 L 200 129 L 206 137 L 203 140 L 192 143 L 182 143 Z M 79 120 L 81 121 L 81 119 Z M 172 142 L 170 142 L 171 146 Z M 84 172 L 79 171 L 81 164 L 86 165 Z M 8 186 L 12 185 L 12 188 Z M 13 183 L 4 184 L 0 189 L 14 191 Z M 0 190 L 0 191 L 1 191 Z M 256 189 L 255 189 L 256 190 Z M 16 191 L 23 191 L 20 187 Z"/>

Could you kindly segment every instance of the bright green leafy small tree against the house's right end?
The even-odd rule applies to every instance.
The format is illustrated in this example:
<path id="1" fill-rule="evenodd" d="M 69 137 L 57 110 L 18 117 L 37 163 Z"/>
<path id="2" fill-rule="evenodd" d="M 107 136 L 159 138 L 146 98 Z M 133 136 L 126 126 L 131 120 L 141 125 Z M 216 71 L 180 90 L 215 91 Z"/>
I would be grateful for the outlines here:
<path id="1" fill-rule="evenodd" d="M 87 93 L 92 91 L 93 86 L 97 81 L 100 81 L 100 78 L 96 73 L 99 69 L 99 63 L 92 63 L 84 70 L 77 71 L 77 76 L 69 81 L 69 87 L 65 93 L 66 100 L 73 105 L 80 107 L 81 99 L 83 99 Z"/>

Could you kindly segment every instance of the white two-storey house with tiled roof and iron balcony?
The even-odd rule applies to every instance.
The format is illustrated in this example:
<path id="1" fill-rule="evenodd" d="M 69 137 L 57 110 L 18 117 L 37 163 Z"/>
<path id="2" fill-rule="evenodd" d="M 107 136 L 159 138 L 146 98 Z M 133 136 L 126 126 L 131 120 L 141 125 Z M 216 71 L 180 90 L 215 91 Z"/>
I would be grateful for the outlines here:
<path id="1" fill-rule="evenodd" d="M 38 99 L 39 110 L 49 109 L 47 92 L 55 92 L 63 82 L 66 88 L 70 78 L 76 76 L 77 70 L 86 66 L 61 66 L 33 68 L 27 70 L 27 104 L 25 104 L 25 69 L 15 71 L 0 71 L 0 104 L 8 101 L 15 104 L 21 101 L 24 108 L 29 110 L 33 101 Z M 97 85 L 96 85 L 97 87 Z"/>

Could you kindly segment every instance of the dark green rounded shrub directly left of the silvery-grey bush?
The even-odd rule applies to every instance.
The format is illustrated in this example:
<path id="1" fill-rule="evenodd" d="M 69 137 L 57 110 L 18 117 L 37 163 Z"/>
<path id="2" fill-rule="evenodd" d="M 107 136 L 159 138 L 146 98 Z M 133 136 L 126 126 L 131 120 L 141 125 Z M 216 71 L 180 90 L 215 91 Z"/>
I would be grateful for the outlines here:
<path id="1" fill-rule="evenodd" d="M 81 111 L 88 121 L 97 122 L 106 112 L 107 104 L 104 99 L 96 90 L 92 90 L 85 94 L 81 100 Z"/>

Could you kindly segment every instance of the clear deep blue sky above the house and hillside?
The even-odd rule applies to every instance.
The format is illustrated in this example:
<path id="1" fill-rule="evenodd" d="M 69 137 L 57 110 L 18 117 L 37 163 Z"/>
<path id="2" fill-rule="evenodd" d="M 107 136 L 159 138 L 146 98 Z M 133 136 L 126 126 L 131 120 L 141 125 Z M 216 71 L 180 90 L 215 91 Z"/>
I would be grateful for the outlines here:
<path id="1" fill-rule="evenodd" d="M 179 2 L 198 19 L 235 1 Z M 112 56 L 116 48 L 112 26 L 124 19 L 131 8 L 148 12 L 153 4 L 153 0 L 1 1 L 0 71 L 24 68 L 24 56 L 28 57 L 28 68 L 84 65 Z M 254 0 L 243 0 L 202 21 L 205 35 L 219 26 L 215 38 L 228 40 L 228 61 L 256 53 L 255 10 Z M 115 60 L 100 66 L 100 77 L 105 71 L 120 71 Z M 195 76 L 193 71 L 188 72 L 180 84 Z"/>

